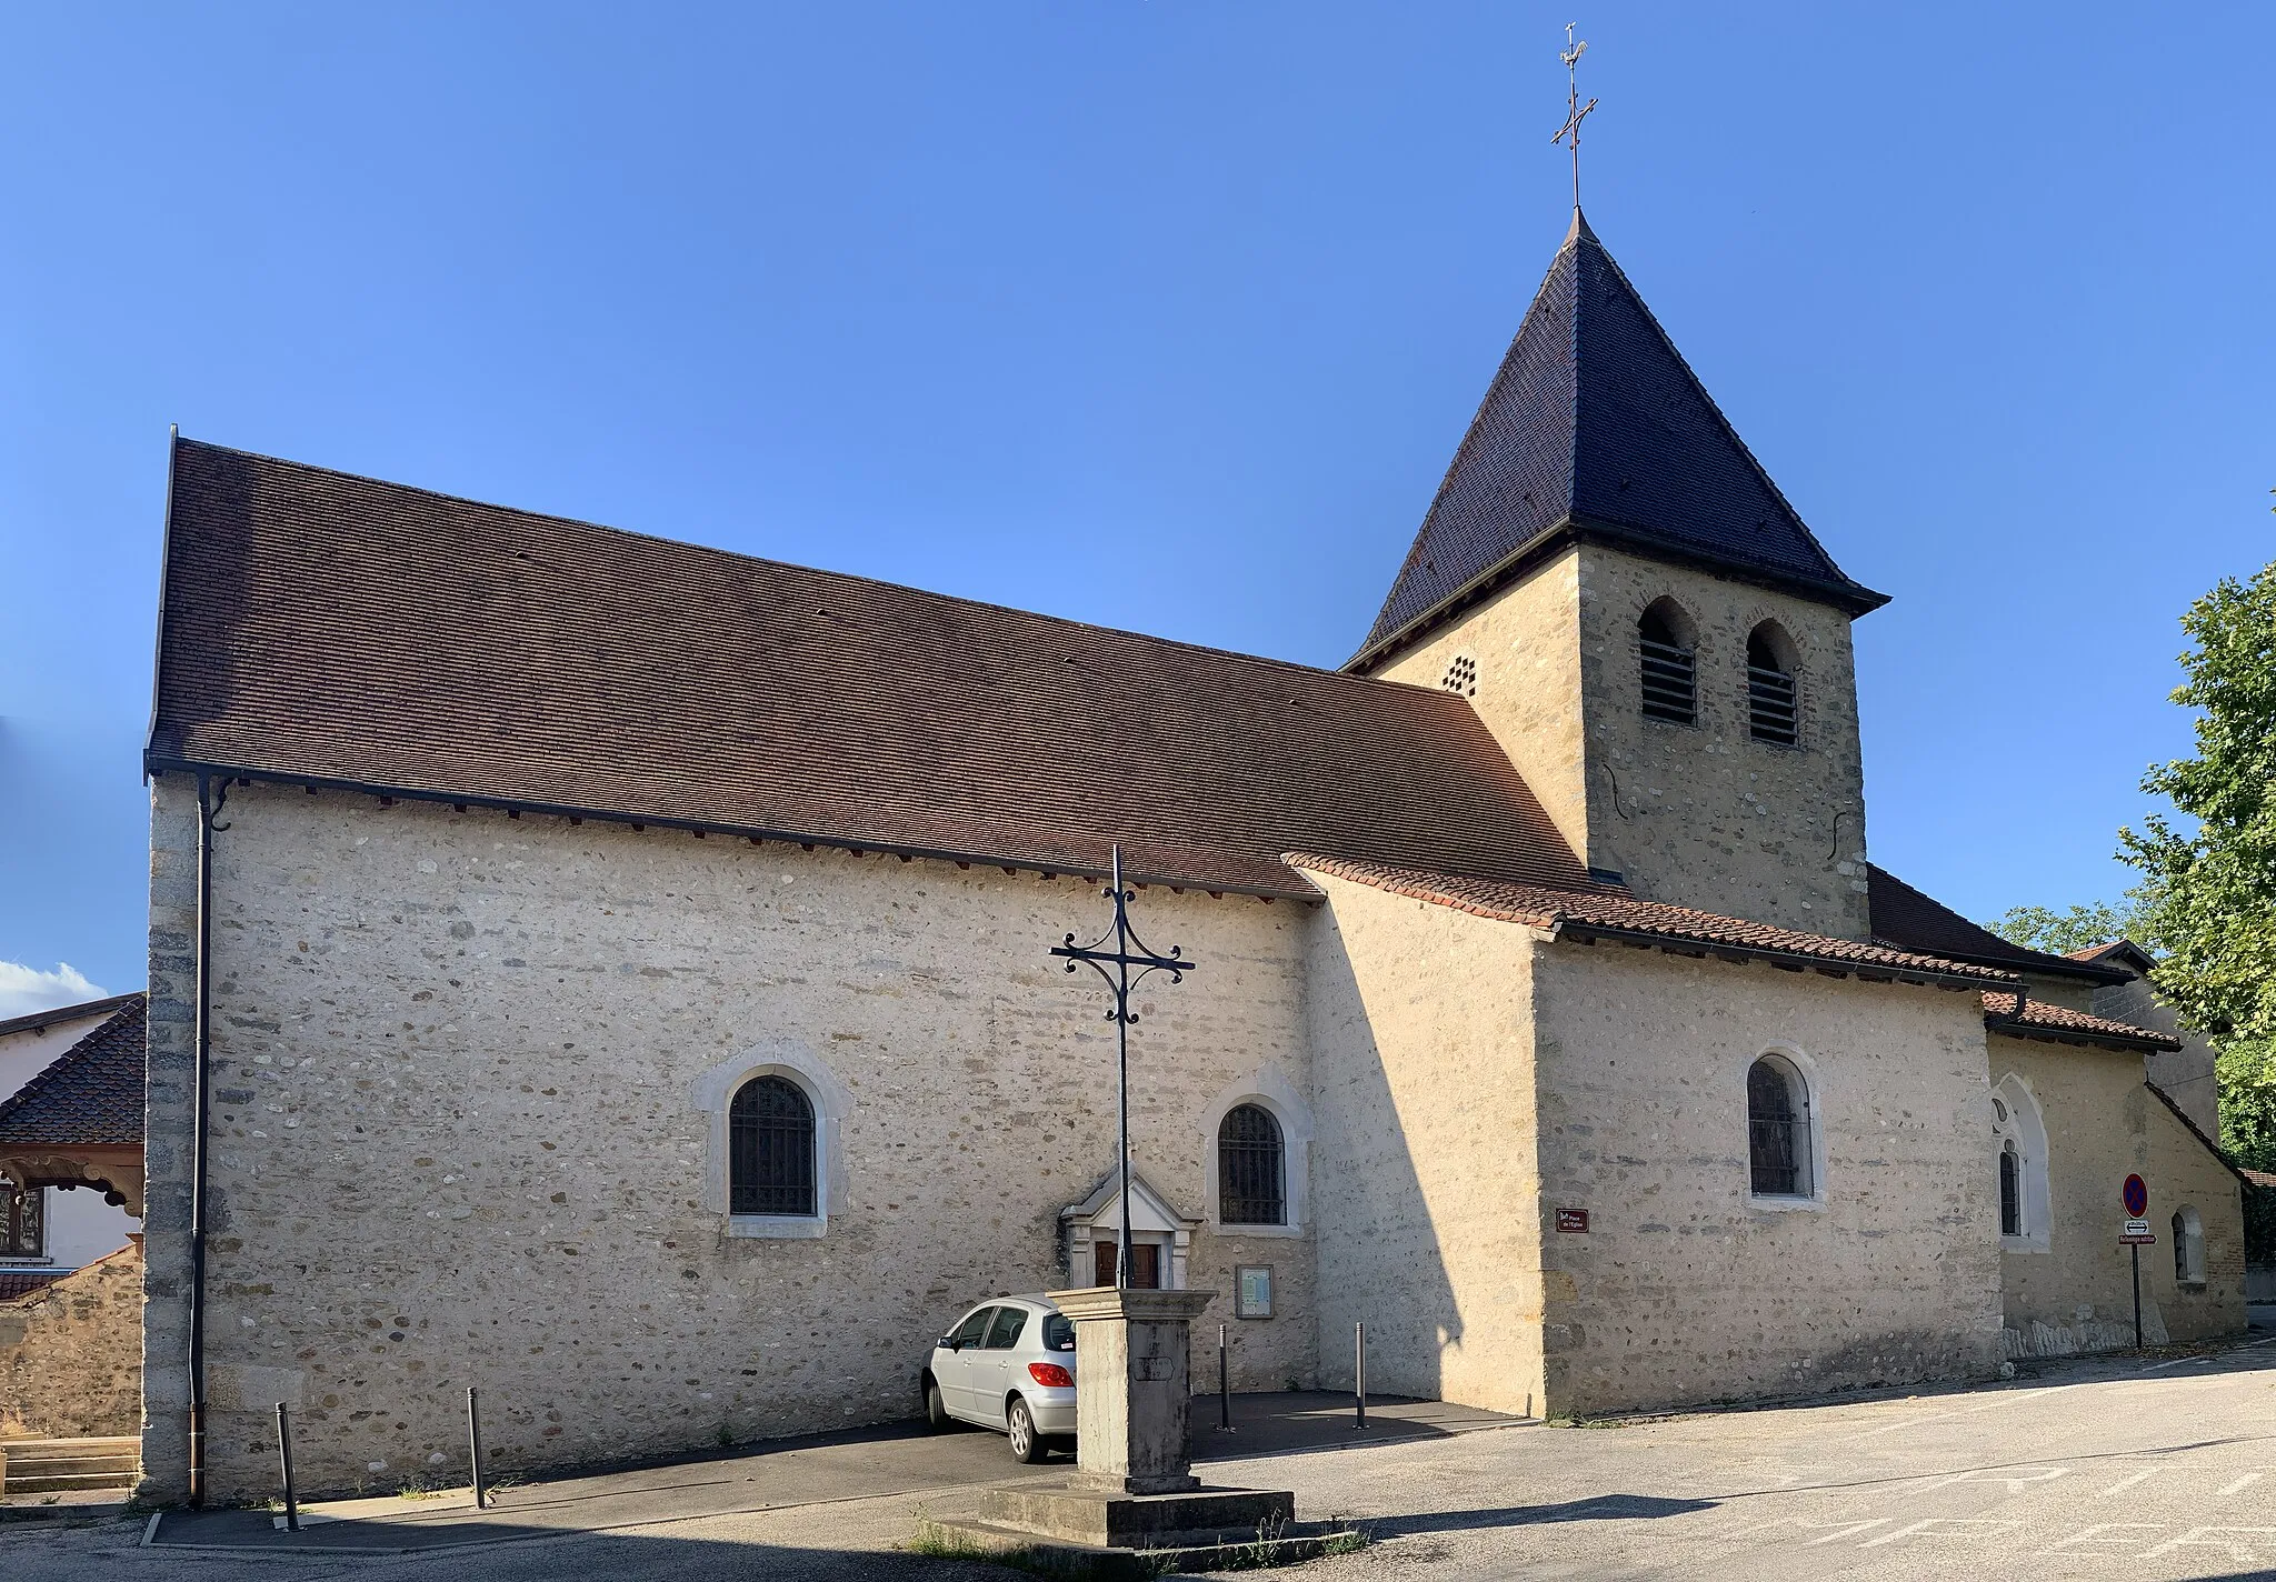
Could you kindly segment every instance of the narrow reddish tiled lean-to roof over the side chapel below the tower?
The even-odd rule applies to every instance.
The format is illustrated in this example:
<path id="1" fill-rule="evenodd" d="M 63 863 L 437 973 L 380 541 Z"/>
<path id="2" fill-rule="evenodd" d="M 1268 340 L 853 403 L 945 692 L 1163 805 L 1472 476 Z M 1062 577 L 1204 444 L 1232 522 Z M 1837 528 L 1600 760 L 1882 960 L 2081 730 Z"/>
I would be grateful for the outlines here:
<path id="1" fill-rule="evenodd" d="M 1609 892 L 1552 890 L 1545 885 L 1509 883 L 1498 879 L 1463 879 L 1459 874 L 1436 874 L 1411 867 L 1386 867 L 1382 863 L 1352 863 L 1345 858 L 1290 851 L 1288 863 L 1316 874 L 1350 879 L 1393 895 L 1407 895 L 1436 906 L 1452 906 L 1479 917 L 1500 922 L 1525 922 L 1536 929 L 1557 929 L 1570 938 L 1630 938 L 1684 947 L 1684 954 L 1732 954 L 1748 961 L 1784 961 L 1819 970 L 1857 972 L 1864 977 L 1896 977 L 1919 981 L 1962 983 L 2014 983 L 2014 977 L 1994 967 L 1980 967 L 1939 956 L 1891 949 L 1859 940 L 1834 940 L 1819 933 L 1796 933 L 1766 922 L 1741 917 L 1718 917 L 1689 906 L 1666 901 L 1639 901 Z M 2014 997 L 2010 995 L 2010 1002 Z"/>

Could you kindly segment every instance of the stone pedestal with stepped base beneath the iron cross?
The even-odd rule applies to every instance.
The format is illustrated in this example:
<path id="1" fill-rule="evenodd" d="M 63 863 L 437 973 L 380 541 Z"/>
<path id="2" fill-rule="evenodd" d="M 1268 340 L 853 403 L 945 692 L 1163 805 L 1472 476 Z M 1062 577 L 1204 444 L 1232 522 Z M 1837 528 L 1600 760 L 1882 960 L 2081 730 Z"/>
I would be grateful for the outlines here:
<path id="1" fill-rule="evenodd" d="M 1215 1291 L 1054 1291 L 1074 1323 L 1074 1475 L 990 1489 L 992 1532 L 1036 1532 L 1090 1548 L 1209 1546 L 1279 1532 L 1284 1489 L 1202 1489 L 1193 1475 L 1188 1375 L 1193 1320 Z"/>

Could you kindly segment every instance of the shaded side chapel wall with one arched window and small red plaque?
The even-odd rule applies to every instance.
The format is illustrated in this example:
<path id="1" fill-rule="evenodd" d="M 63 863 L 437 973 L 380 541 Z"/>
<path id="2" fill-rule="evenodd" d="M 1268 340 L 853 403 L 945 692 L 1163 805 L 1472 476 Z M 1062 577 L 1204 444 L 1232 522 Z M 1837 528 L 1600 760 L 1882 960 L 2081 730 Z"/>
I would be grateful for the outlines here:
<path id="1" fill-rule="evenodd" d="M 2001 1361 L 1978 995 L 1543 942 L 1557 1414 L 1980 1375 Z M 1816 1202 L 1750 1193 L 1748 1068 L 1809 1077 Z M 1555 1225 L 1555 1220 L 1550 1220 Z"/>

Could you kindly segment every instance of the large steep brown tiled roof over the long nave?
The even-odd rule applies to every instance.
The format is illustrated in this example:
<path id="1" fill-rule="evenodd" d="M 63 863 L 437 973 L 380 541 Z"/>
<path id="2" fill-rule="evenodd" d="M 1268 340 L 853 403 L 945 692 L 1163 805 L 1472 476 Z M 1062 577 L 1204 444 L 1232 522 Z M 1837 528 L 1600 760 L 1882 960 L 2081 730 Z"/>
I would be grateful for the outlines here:
<path id="1" fill-rule="evenodd" d="M 178 442 L 148 765 L 1309 895 L 1586 885 L 1468 701 Z"/>

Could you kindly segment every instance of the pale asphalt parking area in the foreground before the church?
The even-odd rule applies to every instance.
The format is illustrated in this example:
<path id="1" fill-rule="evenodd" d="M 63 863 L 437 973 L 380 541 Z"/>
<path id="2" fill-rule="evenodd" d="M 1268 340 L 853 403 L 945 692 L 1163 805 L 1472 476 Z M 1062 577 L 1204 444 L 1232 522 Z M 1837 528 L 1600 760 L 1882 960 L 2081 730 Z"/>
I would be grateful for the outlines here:
<path id="1" fill-rule="evenodd" d="M 1204 1470 L 1211 1482 L 1293 1486 L 1300 1516 L 1366 1523 L 1372 1548 L 1313 1562 L 1302 1575 L 1318 1582 L 2276 1577 L 2276 1338 L 2205 1357 L 2053 1363 L 1971 1391 L 1611 1427 L 1461 1427 L 1382 1441 L 1316 1434 L 1275 1455 L 1254 1455 L 1256 1439 Z M 979 1436 L 876 1441 L 874 1452 L 842 1441 L 671 1468 L 658 1486 L 681 1489 L 669 1498 L 685 1502 L 703 1482 L 710 1507 L 423 1555 L 168 1552 L 139 1546 L 141 1523 L 0 1530 L 0 1575 L 1004 1577 L 894 1552 L 920 1511 L 956 1514 L 972 1498 L 970 1482 L 910 1486 L 926 1457 L 995 1475 L 995 1448 Z M 694 1477 L 703 1468 L 708 1477 Z M 751 1493 L 717 1493 L 737 1477 Z M 863 1491 L 860 1477 L 883 1482 Z M 824 1486 L 840 1493 L 808 1498 Z M 535 1509 L 542 1491 L 526 1498 Z"/>

